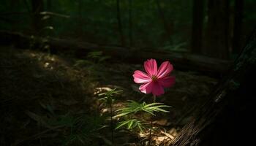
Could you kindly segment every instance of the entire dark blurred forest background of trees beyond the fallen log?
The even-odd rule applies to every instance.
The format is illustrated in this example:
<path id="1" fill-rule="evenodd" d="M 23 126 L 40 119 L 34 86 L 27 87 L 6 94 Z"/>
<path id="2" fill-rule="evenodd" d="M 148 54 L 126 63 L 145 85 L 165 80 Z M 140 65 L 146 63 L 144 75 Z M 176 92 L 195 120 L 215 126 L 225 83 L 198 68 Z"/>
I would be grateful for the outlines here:
<path id="1" fill-rule="evenodd" d="M 255 27 L 254 0 L 2 0 L 0 29 L 229 59 Z M 160 49 L 160 50 L 161 50 Z"/>

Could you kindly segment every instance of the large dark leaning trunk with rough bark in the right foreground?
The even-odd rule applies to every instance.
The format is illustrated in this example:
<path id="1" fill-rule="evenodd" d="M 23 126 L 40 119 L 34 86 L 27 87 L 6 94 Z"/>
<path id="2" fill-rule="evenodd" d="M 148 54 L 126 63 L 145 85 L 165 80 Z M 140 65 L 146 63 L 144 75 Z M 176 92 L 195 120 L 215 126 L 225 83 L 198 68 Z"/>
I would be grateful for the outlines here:
<path id="1" fill-rule="evenodd" d="M 195 119 L 182 128 L 173 146 L 227 146 L 255 143 L 256 33 L 252 35 L 229 74 Z"/>

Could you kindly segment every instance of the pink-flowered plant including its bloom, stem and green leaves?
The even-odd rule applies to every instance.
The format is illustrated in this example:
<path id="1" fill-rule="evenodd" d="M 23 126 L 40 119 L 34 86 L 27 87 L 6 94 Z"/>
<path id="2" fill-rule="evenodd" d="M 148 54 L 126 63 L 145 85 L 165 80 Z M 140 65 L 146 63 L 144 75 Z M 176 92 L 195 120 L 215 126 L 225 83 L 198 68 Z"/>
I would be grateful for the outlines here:
<path id="1" fill-rule="evenodd" d="M 157 67 L 157 61 L 155 59 L 148 59 L 144 62 L 144 68 L 145 72 L 142 72 L 140 70 L 136 70 L 134 72 L 133 80 L 141 84 L 140 85 L 140 91 L 142 93 L 152 93 L 153 94 L 153 103 L 146 105 L 146 103 L 143 104 L 136 104 L 137 108 L 133 108 L 131 110 L 130 107 L 125 108 L 121 113 L 122 115 L 127 115 L 130 112 L 137 112 L 137 110 L 142 110 L 144 112 L 148 112 L 151 115 L 154 115 L 154 112 L 167 112 L 166 110 L 163 110 L 162 107 L 168 107 L 165 105 L 162 105 L 160 103 L 156 103 L 156 96 L 161 96 L 165 93 L 164 88 L 171 87 L 175 83 L 175 77 L 170 76 L 170 72 L 173 71 L 173 65 L 170 64 L 169 61 L 163 62 L 159 68 Z M 133 105 L 134 103 L 132 103 Z M 151 126 L 150 126 L 150 132 L 149 132 L 149 145 L 151 145 L 151 131 L 152 131 L 152 123 L 151 120 Z"/>

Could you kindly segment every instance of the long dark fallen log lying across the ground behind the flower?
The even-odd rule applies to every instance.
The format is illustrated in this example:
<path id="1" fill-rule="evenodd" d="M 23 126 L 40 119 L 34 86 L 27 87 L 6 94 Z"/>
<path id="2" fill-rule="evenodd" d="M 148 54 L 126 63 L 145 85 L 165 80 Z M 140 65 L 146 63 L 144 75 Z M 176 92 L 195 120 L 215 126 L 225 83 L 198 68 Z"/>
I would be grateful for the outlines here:
<path id="1" fill-rule="evenodd" d="M 32 37 L 17 32 L 0 31 L 0 39 L 1 44 L 14 43 L 17 47 L 28 48 L 31 43 L 38 47 L 40 43 L 44 42 L 45 38 Z M 111 58 L 117 61 L 139 63 L 148 58 L 156 58 L 159 61 L 171 61 L 176 69 L 193 70 L 210 74 L 224 74 L 227 72 L 228 66 L 232 63 L 232 61 L 210 58 L 204 55 L 165 50 L 160 51 L 160 49 L 146 50 L 141 48 L 96 45 L 88 42 L 57 38 L 48 38 L 47 42 L 52 52 L 64 53 L 65 51 L 72 51 L 79 58 L 84 58 L 91 51 L 102 51 L 104 55 L 110 55 Z"/>

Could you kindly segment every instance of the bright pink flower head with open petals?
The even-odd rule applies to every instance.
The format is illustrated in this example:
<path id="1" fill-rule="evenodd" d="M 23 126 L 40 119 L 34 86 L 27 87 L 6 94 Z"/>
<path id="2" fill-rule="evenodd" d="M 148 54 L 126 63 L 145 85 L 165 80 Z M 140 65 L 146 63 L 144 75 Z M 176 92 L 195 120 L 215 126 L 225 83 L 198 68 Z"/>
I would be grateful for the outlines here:
<path id="1" fill-rule="evenodd" d="M 173 71 L 173 65 L 165 61 L 157 69 L 157 61 L 150 59 L 144 62 L 145 72 L 136 70 L 132 75 L 136 83 L 140 85 L 142 93 L 153 93 L 154 96 L 160 96 L 165 93 L 164 88 L 168 88 L 175 83 L 175 77 L 169 76 Z"/>

